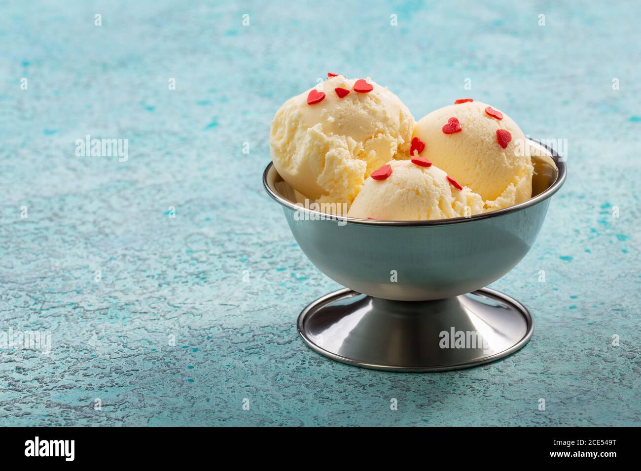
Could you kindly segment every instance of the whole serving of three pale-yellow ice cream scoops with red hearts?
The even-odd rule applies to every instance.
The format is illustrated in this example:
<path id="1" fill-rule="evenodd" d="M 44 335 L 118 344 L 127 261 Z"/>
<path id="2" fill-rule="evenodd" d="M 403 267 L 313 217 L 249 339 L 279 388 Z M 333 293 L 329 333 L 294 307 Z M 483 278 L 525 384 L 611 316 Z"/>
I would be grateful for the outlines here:
<path id="1" fill-rule="evenodd" d="M 270 147 L 297 202 L 342 203 L 350 217 L 446 219 L 532 195 L 530 147 L 510 117 L 461 99 L 415 123 L 369 78 L 328 74 L 289 99 L 272 122 Z"/>

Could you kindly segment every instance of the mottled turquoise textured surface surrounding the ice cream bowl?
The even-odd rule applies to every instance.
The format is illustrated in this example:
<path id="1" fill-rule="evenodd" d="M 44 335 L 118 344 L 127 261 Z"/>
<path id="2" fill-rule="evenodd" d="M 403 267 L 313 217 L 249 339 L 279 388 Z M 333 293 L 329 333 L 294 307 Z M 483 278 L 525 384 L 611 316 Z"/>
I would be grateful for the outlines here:
<path id="1" fill-rule="evenodd" d="M 0 333 L 52 335 L 48 355 L 0 351 L 1 424 L 640 424 L 635 2 L 17 0 L 0 12 Z M 298 338 L 299 311 L 340 286 L 297 248 L 260 178 L 272 116 L 328 71 L 371 76 L 417 118 L 471 96 L 531 136 L 567 139 L 569 179 L 537 244 L 492 285 L 535 317 L 522 351 L 394 374 Z M 77 157 L 85 135 L 127 138 L 129 160 Z"/>

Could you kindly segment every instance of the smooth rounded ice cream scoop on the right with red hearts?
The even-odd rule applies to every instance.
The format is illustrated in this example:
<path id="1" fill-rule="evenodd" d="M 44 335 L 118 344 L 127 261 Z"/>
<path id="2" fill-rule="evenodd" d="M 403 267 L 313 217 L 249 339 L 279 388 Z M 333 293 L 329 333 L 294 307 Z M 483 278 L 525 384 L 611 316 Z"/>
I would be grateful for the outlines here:
<path id="1" fill-rule="evenodd" d="M 486 211 L 531 197 L 526 137 L 499 110 L 479 101 L 445 106 L 419 120 L 413 136 L 425 144 L 420 156 L 481 195 Z"/>

